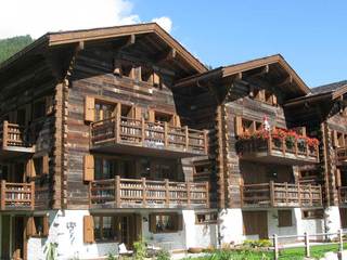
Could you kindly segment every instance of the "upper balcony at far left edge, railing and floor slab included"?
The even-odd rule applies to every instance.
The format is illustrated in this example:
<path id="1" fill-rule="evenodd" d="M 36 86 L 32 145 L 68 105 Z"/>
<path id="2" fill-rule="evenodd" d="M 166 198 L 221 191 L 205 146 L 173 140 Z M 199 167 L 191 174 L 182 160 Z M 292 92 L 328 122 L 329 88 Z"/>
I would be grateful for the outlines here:
<path id="1" fill-rule="evenodd" d="M 2 159 L 23 154 L 35 153 L 35 146 L 27 141 L 27 134 L 23 127 L 16 123 L 3 121 L 0 126 L 0 156 Z"/>

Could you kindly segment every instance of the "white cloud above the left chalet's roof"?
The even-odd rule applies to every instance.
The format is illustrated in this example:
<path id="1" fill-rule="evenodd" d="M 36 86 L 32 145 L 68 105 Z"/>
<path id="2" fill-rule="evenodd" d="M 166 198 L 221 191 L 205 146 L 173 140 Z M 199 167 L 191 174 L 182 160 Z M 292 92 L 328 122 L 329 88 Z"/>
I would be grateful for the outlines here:
<path id="1" fill-rule="evenodd" d="M 140 23 L 129 0 L 1 0 L 0 39 Z M 154 18 L 170 31 L 169 17 Z"/>

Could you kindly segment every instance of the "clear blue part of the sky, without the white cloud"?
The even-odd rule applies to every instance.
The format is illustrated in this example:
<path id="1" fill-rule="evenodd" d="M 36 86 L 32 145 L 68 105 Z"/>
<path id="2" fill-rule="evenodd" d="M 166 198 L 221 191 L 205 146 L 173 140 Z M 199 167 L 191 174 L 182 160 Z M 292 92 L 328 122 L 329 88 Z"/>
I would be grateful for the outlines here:
<path id="1" fill-rule="evenodd" d="M 214 67 L 281 53 L 310 87 L 347 79 L 347 1 L 132 0 Z"/>

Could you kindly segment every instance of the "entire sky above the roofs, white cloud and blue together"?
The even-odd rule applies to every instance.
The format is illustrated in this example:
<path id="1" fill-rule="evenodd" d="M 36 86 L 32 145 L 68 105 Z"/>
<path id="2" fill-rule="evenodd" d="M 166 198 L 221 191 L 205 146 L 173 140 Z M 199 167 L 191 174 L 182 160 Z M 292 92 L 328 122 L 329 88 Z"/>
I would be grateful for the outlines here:
<path id="1" fill-rule="evenodd" d="M 1 0 L 0 39 L 152 21 L 213 67 L 281 53 L 310 87 L 347 79 L 346 0 Z"/>

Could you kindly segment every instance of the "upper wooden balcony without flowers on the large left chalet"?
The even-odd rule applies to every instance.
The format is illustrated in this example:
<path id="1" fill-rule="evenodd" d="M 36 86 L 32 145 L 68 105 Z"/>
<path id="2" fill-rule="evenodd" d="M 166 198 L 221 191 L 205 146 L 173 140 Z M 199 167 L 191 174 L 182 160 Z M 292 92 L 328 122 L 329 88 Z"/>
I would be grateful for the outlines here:
<path id="1" fill-rule="evenodd" d="M 167 122 L 112 117 L 91 123 L 91 150 L 103 153 L 146 154 L 162 157 L 207 155 L 207 132 Z"/>

